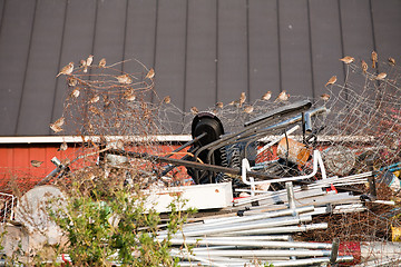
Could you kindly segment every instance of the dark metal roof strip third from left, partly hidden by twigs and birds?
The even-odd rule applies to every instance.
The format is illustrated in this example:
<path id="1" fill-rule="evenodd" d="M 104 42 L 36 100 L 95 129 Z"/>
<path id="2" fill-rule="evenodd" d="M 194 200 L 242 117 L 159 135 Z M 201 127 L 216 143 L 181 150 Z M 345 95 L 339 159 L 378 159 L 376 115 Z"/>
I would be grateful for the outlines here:
<path id="1" fill-rule="evenodd" d="M 81 59 L 86 59 L 92 53 L 94 34 L 95 34 L 95 21 L 96 21 L 96 0 L 86 1 L 67 1 L 67 18 L 62 47 L 59 55 L 59 66 L 52 75 L 57 75 L 63 66 L 74 61 L 79 65 Z M 99 56 L 95 56 L 94 62 L 99 61 Z M 57 79 L 56 96 L 53 102 L 53 110 L 51 115 L 51 121 L 56 121 L 61 117 L 63 112 L 63 103 L 68 93 L 68 87 L 66 78 L 60 76 Z M 74 107 L 72 107 L 74 108 Z M 66 131 L 63 134 L 77 134 L 75 126 L 66 125 Z M 49 128 L 49 135 L 53 132 Z"/>

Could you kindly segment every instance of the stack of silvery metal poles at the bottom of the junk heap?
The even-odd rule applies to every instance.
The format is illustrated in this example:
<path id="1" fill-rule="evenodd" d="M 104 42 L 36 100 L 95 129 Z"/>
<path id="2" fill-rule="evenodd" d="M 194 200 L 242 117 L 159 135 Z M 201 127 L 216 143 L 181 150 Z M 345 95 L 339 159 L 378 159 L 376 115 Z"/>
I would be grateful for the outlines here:
<path id="1" fill-rule="evenodd" d="M 352 261 L 352 256 L 338 257 L 339 241 L 333 244 L 294 241 L 291 234 L 325 229 L 327 224 L 311 224 L 314 206 L 296 207 L 292 182 L 286 182 L 288 208 L 244 212 L 187 224 L 172 237 L 180 266 L 322 266 Z M 167 238 L 160 231 L 160 240 Z M 190 249 L 189 249 L 190 248 Z"/>

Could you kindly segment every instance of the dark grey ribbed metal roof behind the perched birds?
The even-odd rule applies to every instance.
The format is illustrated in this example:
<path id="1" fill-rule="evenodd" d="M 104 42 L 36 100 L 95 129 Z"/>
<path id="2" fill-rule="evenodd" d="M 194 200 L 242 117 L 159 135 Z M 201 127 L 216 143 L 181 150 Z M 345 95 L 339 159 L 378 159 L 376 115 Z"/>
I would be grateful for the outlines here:
<path id="1" fill-rule="evenodd" d="M 320 96 L 344 55 L 401 61 L 399 0 L 1 0 L 0 16 L 0 136 L 51 135 L 56 75 L 90 53 L 154 67 L 185 111 L 242 91 Z"/>

